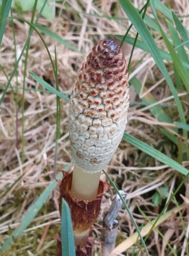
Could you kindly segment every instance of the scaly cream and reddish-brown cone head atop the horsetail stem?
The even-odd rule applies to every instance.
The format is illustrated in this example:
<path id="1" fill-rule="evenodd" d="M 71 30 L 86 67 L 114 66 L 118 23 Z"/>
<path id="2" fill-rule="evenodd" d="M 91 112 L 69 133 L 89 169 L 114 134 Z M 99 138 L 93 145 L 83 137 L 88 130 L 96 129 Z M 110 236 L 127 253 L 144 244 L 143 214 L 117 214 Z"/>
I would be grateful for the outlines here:
<path id="1" fill-rule="evenodd" d="M 70 142 L 74 161 L 96 172 L 111 160 L 122 139 L 129 107 L 128 71 L 112 39 L 93 47 L 70 97 Z"/>

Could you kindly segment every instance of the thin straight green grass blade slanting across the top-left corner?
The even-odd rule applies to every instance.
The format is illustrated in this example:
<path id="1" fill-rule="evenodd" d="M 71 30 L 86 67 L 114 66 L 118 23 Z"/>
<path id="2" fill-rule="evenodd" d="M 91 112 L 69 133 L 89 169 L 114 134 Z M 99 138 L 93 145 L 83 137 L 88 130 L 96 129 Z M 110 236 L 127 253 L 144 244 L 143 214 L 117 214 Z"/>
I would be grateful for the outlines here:
<path id="1" fill-rule="evenodd" d="M 41 10 L 39 11 L 39 13 L 38 13 L 38 15 L 37 15 L 37 18 L 36 18 L 36 21 L 35 21 L 34 25 L 37 24 L 38 19 L 39 19 L 39 17 L 40 17 L 40 15 L 41 15 L 41 13 L 42 13 L 42 11 L 43 11 L 43 9 L 44 9 L 44 7 L 45 7 L 45 5 L 46 5 L 47 2 L 48 2 L 48 0 L 44 0 L 43 6 L 41 7 Z M 13 18 L 13 17 L 12 17 L 12 18 Z M 15 18 L 15 17 L 14 17 L 14 18 Z M 21 57 L 22 57 L 22 55 L 23 55 L 23 52 L 25 51 L 25 49 L 26 49 L 26 47 L 27 47 L 27 45 L 28 45 L 28 41 L 29 41 L 29 38 L 30 38 L 31 35 L 32 35 L 32 32 L 33 32 L 33 30 L 31 30 L 31 33 L 30 33 L 29 37 L 27 38 L 27 40 L 26 40 L 26 42 L 25 42 L 25 45 L 23 46 L 23 48 L 22 48 L 22 50 L 21 50 L 21 53 L 20 53 L 20 55 L 19 55 L 19 57 L 18 57 L 18 59 L 17 59 L 17 61 L 16 61 L 16 63 L 15 63 L 14 69 L 13 69 L 13 71 L 12 71 L 12 73 L 11 73 L 11 76 L 10 76 L 10 78 L 9 78 L 7 84 L 6 84 L 6 87 L 5 87 L 4 91 L 3 91 L 2 97 L 1 97 L 1 99 L 0 99 L 0 106 L 1 106 L 1 104 L 2 104 L 2 102 L 3 102 L 3 100 L 4 100 L 4 98 L 5 98 L 5 95 L 6 95 L 6 93 L 7 93 L 7 90 L 9 89 L 9 86 L 10 86 L 10 83 L 11 83 L 11 81 L 12 81 L 12 78 L 13 78 L 13 76 L 15 75 L 15 73 L 17 72 L 18 63 L 19 63 L 19 61 L 20 61 L 20 59 L 21 59 Z"/>

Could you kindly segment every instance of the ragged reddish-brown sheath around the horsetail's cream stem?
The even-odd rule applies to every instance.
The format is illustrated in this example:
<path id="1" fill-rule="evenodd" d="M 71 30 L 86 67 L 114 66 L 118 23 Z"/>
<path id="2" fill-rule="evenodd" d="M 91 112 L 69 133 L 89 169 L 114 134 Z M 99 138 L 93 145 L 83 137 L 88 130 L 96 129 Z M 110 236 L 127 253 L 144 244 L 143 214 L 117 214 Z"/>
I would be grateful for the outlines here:
<path id="1" fill-rule="evenodd" d="M 109 190 L 110 185 L 100 181 L 98 195 L 94 200 L 80 200 L 71 196 L 73 173 L 63 172 L 63 179 L 59 185 L 60 199 L 59 210 L 61 212 L 62 198 L 68 203 L 74 230 L 75 245 L 81 248 L 85 246 L 91 226 L 95 223 L 99 212 L 103 195 Z"/>

